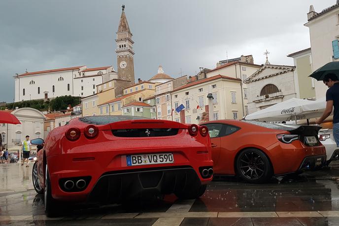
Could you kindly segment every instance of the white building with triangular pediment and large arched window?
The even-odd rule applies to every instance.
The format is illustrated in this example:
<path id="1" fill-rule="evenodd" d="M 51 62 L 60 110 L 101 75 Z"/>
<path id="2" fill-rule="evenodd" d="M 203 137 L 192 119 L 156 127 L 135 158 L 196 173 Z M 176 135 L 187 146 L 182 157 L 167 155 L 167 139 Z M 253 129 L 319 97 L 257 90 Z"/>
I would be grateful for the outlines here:
<path id="1" fill-rule="evenodd" d="M 294 66 L 270 65 L 268 62 L 249 76 L 247 84 L 248 113 L 297 97 L 297 75 Z"/>

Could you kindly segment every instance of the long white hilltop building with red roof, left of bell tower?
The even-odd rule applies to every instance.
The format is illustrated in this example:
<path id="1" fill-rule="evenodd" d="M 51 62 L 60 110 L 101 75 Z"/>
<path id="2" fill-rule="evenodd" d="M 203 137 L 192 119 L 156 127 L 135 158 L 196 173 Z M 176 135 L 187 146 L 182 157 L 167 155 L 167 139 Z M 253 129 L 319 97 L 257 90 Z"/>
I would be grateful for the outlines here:
<path id="1" fill-rule="evenodd" d="M 15 75 L 15 102 L 53 99 L 58 96 L 85 97 L 96 93 L 96 85 L 118 75 L 112 66 L 86 66 L 26 72 Z"/>

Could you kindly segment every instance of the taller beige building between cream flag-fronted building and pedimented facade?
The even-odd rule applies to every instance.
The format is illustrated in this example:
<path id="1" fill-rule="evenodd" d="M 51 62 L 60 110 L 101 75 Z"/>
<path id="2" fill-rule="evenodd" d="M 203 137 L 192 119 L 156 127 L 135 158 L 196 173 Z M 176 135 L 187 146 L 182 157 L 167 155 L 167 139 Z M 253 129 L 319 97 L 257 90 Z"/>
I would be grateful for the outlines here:
<path id="1" fill-rule="evenodd" d="M 249 57 L 250 56 L 250 57 Z M 248 61 L 253 62 L 252 55 L 249 55 L 245 58 L 248 59 Z M 237 58 L 235 58 L 237 59 Z M 232 60 L 232 59 L 231 59 Z M 207 77 L 215 76 L 215 75 L 225 75 L 229 77 L 239 78 L 241 79 L 241 104 L 242 104 L 242 115 L 248 114 L 248 91 L 247 91 L 247 85 L 243 83 L 244 80 L 246 80 L 247 77 L 254 74 L 258 69 L 261 68 L 261 65 L 246 63 L 246 62 L 240 62 L 240 61 L 233 61 L 229 63 L 225 63 L 220 67 L 217 67 L 209 72 L 207 72 Z"/>

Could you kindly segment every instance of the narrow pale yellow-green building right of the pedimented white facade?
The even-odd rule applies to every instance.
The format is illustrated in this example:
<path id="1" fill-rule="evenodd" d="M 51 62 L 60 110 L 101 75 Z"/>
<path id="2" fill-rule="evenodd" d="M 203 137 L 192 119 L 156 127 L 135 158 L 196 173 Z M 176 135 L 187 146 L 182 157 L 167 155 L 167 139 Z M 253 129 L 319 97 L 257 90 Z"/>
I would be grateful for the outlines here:
<path id="1" fill-rule="evenodd" d="M 294 60 L 296 70 L 296 88 L 297 98 L 315 99 L 314 78 L 308 77 L 312 73 L 312 55 L 311 48 L 300 50 L 287 55 Z"/>

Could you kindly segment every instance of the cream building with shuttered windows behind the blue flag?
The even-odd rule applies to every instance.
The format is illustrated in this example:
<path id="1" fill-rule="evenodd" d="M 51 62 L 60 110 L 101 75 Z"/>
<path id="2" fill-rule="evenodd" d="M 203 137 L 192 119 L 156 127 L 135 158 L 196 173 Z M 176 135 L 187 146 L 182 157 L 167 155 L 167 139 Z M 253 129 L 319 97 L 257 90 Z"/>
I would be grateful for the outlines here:
<path id="1" fill-rule="evenodd" d="M 184 109 L 173 112 L 173 120 L 182 123 L 199 123 L 203 112 L 208 112 L 207 94 L 213 95 L 213 113 L 210 120 L 235 118 L 241 119 L 241 79 L 224 75 L 215 75 L 180 86 L 171 92 L 172 106 L 181 104 Z M 199 106 L 199 108 L 198 108 Z"/>

